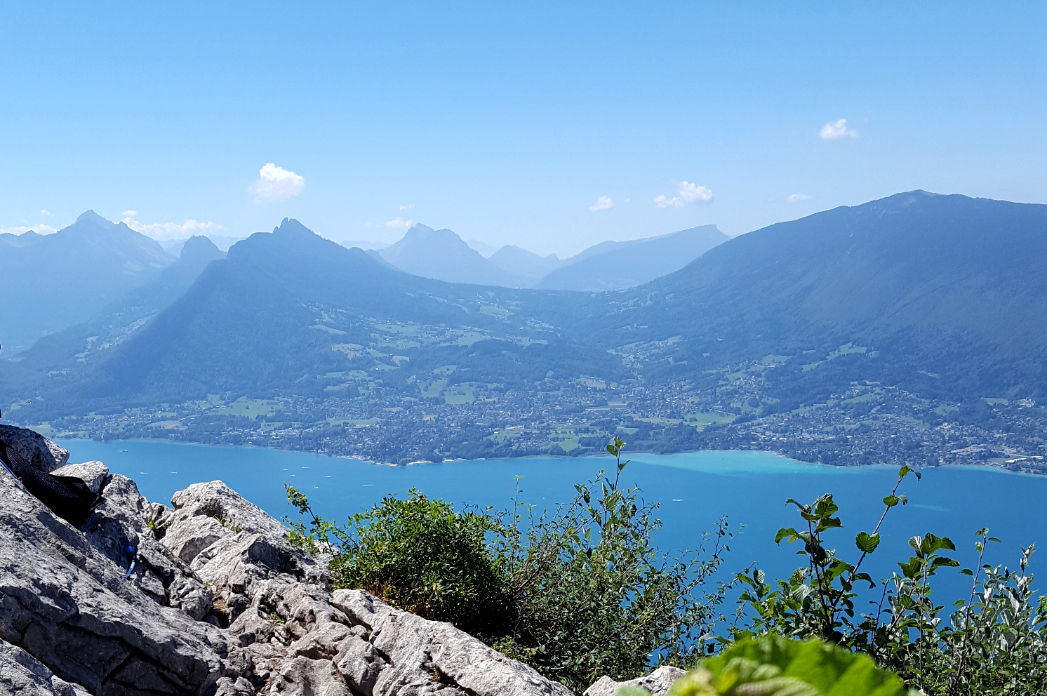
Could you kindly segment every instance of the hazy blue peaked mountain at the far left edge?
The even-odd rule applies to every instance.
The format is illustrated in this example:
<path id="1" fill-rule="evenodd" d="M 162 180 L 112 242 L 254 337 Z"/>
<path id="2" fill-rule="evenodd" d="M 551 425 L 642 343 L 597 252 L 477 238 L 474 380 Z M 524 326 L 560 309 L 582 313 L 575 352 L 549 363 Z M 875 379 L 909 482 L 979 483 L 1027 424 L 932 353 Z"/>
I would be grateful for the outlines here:
<path id="1" fill-rule="evenodd" d="M 4 353 L 86 321 L 174 261 L 157 242 L 91 210 L 28 246 L 4 249 Z"/>

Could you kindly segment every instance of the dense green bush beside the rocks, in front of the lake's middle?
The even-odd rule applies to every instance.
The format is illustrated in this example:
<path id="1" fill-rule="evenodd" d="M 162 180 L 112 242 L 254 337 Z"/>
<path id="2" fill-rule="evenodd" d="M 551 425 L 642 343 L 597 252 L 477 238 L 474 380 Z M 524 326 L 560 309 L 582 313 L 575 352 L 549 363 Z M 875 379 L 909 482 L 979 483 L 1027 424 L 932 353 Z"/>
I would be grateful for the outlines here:
<path id="1" fill-rule="evenodd" d="M 670 558 L 651 544 L 658 504 L 623 488 L 625 443 L 607 450 L 614 477 L 600 472 L 556 511 L 519 502 L 509 511 L 455 512 L 411 491 L 353 515 L 346 526 L 313 515 L 292 523 L 292 542 L 333 555 L 340 587 L 363 587 L 389 604 L 449 621 L 545 676 L 581 693 L 602 675 L 627 679 L 651 655 L 694 664 L 712 648 L 727 585 L 707 583 L 722 562 L 725 521 L 703 539 L 711 552 Z"/>

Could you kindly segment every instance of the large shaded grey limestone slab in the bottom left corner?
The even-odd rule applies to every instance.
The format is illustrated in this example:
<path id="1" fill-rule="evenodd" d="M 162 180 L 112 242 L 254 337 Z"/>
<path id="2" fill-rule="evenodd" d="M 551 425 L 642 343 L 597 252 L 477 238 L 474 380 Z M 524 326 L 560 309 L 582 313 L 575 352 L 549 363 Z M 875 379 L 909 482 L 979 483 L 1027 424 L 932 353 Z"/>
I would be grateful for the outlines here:
<path id="1" fill-rule="evenodd" d="M 0 639 L 95 696 L 206 696 L 249 670 L 231 635 L 158 606 L 17 481 L 0 476 Z"/>

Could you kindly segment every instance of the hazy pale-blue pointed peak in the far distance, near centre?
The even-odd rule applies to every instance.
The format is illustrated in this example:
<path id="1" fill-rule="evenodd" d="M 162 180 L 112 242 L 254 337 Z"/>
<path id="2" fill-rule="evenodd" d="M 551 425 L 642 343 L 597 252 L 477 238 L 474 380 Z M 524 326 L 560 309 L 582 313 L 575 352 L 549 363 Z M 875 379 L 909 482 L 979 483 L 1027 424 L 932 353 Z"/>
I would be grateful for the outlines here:
<path id="1" fill-rule="evenodd" d="M 505 287 L 524 285 L 449 229 L 415 225 L 402 240 L 378 253 L 400 270 L 426 278 Z"/>

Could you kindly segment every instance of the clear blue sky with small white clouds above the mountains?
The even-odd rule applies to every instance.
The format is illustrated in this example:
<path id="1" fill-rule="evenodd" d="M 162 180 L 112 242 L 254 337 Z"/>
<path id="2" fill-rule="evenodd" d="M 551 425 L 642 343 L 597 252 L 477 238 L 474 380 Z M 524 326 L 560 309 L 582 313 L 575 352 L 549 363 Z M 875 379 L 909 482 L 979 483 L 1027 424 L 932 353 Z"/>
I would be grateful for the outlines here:
<path id="1" fill-rule="evenodd" d="M 912 188 L 1047 202 L 1047 4 L 849 4 L 4 3 L 0 228 L 562 255 Z"/>

